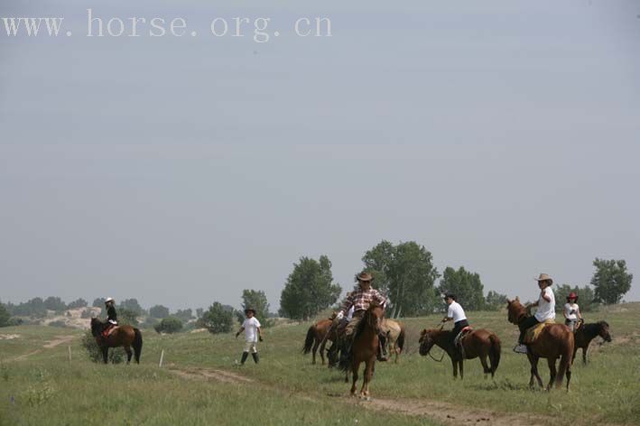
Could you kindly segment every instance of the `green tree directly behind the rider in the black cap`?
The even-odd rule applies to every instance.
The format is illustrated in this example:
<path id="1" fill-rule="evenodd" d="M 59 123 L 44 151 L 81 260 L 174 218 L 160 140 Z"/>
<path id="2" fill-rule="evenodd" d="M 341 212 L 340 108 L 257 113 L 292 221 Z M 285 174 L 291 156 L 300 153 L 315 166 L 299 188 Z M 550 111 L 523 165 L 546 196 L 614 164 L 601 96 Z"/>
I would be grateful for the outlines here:
<path id="1" fill-rule="evenodd" d="M 465 310 L 482 310 L 485 308 L 483 285 L 478 273 L 471 273 L 463 266 L 458 271 L 448 266 L 440 281 L 439 291 L 442 294 L 454 293 Z"/>

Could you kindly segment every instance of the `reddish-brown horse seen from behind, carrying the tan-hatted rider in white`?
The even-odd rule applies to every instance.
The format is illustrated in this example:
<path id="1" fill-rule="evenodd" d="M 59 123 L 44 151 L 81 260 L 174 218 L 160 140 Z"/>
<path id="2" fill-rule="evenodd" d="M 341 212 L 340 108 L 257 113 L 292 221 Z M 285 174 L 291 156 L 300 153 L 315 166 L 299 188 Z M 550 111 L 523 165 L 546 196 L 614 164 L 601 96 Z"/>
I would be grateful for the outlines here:
<path id="1" fill-rule="evenodd" d="M 508 319 L 512 324 L 520 324 L 528 316 L 526 308 L 516 297 L 514 301 L 506 300 Z M 540 387 L 543 387 L 543 379 L 538 374 L 538 359 L 547 358 L 549 373 L 551 378 L 547 389 L 551 389 L 555 379 L 556 388 L 562 386 L 562 377 L 567 375 L 567 391 L 571 381 L 571 363 L 573 361 L 573 347 L 575 341 L 573 333 L 564 324 L 549 324 L 540 332 L 538 338 L 528 346 L 527 357 L 531 363 L 531 379 L 529 386 L 533 387 L 533 377 L 536 378 Z M 555 360 L 560 358 L 560 367 L 556 370 Z"/>

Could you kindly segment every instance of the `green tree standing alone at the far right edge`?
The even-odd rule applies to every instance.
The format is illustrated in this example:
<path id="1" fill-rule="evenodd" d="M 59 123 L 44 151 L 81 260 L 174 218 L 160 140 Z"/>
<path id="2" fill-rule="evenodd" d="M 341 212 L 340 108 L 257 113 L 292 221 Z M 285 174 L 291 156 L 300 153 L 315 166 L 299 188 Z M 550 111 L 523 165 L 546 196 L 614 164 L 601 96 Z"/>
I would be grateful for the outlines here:
<path id="1" fill-rule="evenodd" d="M 596 258 L 593 265 L 596 272 L 591 278 L 591 285 L 596 289 L 595 300 L 605 304 L 619 303 L 622 296 L 631 289 L 634 279 L 632 273 L 626 272 L 626 262 Z"/>

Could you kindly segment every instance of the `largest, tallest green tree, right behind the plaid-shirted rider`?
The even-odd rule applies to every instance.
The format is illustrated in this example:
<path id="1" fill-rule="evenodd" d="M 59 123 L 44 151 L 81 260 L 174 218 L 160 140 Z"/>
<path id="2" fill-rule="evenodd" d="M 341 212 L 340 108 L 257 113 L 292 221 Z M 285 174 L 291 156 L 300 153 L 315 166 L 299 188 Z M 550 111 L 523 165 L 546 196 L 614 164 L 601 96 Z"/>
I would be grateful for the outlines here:
<path id="1" fill-rule="evenodd" d="M 424 246 L 413 241 L 393 245 L 383 240 L 367 251 L 362 261 L 375 277 L 373 286 L 388 296 L 391 318 L 426 315 L 438 306 L 434 282 L 439 274 Z"/>

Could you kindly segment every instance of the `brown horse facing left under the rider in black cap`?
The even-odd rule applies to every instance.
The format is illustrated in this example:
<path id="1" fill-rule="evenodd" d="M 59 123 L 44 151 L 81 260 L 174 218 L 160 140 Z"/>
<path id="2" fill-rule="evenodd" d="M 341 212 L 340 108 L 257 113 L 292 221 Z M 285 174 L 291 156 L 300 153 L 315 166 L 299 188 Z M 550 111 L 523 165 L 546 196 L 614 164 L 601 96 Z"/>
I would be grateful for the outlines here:
<path id="1" fill-rule="evenodd" d="M 437 345 L 451 358 L 453 365 L 453 377 L 458 377 L 458 366 L 460 367 L 460 379 L 464 378 L 464 359 L 480 357 L 480 364 L 485 371 L 485 377 L 491 373 L 491 377 L 496 374 L 497 366 L 500 364 L 500 339 L 495 333 L 487 329 L 474 330 L 467 337 L 462 339 L 464 348 L 464 359 L 458 347 L 453 345 L 453 331 L 443 329 L 423 329 L 420 336 L 420 355 L 429 354 L 431 347 Z M 487 365 L 487 357 L 490 366 Z"/>

